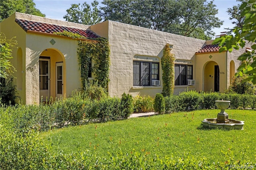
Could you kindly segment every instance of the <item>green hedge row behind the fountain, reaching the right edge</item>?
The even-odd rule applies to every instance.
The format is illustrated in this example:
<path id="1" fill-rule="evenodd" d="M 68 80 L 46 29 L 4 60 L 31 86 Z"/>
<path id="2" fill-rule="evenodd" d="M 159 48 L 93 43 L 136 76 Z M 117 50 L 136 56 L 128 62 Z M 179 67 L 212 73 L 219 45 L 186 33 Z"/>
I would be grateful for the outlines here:
<path id="1" fill-rule="evenodd" d="M 232 109 L 255 109 L 256 95 L 238 93 L 182 92 L 180 95 L 165 97 L 166 112 L 213 109 L 216 100 L 229 100 Z"/>

